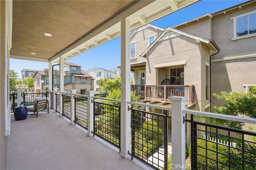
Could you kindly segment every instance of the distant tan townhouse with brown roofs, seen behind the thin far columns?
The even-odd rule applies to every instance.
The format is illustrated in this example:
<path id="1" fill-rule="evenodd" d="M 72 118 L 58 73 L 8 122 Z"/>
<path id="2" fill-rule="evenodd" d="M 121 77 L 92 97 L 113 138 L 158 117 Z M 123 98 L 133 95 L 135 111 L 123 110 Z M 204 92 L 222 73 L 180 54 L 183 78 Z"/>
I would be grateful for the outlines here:
<path id="1" fill-rule="evenodd" d="M 44 80 L 44 83 L 41 81 Z M 36 90 L 49 85 L 49 69 L 37 71 L 34 76 L 34 87 Z M 38 83 L 40 85 L 38 86 Z M 43 85 L 43 86 L 42 86 Z M 53 86 L 60 86 L 60 71 L 53 70 Z M 65 62 L 64 64 L 64 92 L 70 92 L 71 89 L 76 89 L 78 94 L 87 94 L 93 90 L 93 78 L 90 74 L 81 69 L 80 65 L 75 63 Z"/>

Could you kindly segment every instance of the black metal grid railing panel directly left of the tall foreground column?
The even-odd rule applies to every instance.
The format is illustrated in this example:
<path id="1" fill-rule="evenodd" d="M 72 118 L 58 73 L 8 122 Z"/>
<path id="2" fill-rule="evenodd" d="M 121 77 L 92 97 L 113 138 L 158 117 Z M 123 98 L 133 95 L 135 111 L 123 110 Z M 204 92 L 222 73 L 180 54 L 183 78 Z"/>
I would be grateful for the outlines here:
<path id="1" fill-rule="evenodd" d="M 120 148 L 120 106 L 93 101 L 93 136 Z"/>

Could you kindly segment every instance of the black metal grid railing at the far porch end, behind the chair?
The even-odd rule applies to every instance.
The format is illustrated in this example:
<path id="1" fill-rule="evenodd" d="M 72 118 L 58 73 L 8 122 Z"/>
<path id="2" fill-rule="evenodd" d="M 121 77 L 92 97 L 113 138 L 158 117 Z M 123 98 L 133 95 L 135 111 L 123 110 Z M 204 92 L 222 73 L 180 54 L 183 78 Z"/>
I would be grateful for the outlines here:
<path id="1" fill-rule="evenodd" d="M 24 106 L 34 105 L 35 99 L 37 98 L 47 98 L 47 92 L 35 92 L 35 93 L 29 93 L 29 92 L 23 92 L 23 104 Z"/>

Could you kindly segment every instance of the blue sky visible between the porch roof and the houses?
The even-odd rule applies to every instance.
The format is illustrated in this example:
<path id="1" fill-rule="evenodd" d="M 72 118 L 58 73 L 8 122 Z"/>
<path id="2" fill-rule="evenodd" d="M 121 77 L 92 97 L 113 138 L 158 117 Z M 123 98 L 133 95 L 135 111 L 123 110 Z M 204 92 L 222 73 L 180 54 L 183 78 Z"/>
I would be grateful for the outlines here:
<path id="1" fill-rule="evenodd" d="M 214 13 L 223 10 L 227 7 L 234 6 L 245 1 L 200 1 L 173 14 L 167 15 L 151 24 L 158 27 L 166 28 L 167 26 L 177 25 L 179 23 L 197 18 L 207 13 Z M 81 65 L 83 70 L 89 70 L 92 67 L 102 67 L 105 69 L 111 69 L 119 66 L 120 60 L 120 38 L 109 41 L 103 45 L 93 48 L 83 54 L 80 54 L 74 58 L 68 60 Z M 33 62 L 25 60 L 10 60 L 10 69 L 19 73 L 19 77 L 22 69 L 43 70 L 48 67 L 48 63 Z"/>

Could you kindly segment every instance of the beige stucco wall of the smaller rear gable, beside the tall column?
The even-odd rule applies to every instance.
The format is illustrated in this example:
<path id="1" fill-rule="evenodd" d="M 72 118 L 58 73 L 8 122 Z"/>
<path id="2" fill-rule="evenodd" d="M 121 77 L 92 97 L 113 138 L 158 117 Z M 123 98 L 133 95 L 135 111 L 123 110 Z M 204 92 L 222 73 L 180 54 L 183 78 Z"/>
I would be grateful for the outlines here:
<path id="1" fill-rule="evenodd" d="M 145 58 L 140 57 L 140 55 L 148 47 L 148 37 L 156 35 L 158 37 L 162 33 L 161 30 L 156 30 L 155 28 L 148 27 L 137 31 L 131 37 L 131 43 L 135 43 L 135 58 L 131 59 L 131 63 L 137 63 L 146 61 Z"/>

